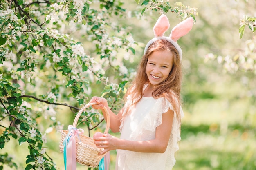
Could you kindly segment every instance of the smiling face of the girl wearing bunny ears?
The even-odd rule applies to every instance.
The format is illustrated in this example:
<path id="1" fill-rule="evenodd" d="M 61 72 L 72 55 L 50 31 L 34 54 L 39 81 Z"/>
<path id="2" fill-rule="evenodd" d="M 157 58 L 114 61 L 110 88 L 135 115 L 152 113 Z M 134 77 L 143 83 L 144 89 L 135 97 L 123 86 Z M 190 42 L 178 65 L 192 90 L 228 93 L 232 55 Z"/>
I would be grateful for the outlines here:
<path id="1" fill-rule="evenodd" d="M 173 68 L 173 53 L 154 51 L 149 57 L 146 74 L 151 85 L 157 86 L 163 82 Z"/>

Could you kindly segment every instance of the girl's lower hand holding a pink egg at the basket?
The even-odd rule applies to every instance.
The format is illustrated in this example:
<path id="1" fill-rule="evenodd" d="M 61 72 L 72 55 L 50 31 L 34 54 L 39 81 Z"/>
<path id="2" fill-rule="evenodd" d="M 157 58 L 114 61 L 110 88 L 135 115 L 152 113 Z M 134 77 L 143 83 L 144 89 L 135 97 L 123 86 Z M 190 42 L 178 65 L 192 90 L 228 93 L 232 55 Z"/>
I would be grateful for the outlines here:
<path id="1" fill-rule="evenodd" d="M 94 137 L 93 139 L 94 139 L 94 144 L 98 148 L 104 149 L 101 153 L 99 153 L 99 155 L 103 155 L 110 150 L 116 150 L 117 142 L 119 140 L 119 138 L 117 137 L 114 137 L 109 134 L 104 134 L 104 133 L 103 133 L 103 137 Z"/>

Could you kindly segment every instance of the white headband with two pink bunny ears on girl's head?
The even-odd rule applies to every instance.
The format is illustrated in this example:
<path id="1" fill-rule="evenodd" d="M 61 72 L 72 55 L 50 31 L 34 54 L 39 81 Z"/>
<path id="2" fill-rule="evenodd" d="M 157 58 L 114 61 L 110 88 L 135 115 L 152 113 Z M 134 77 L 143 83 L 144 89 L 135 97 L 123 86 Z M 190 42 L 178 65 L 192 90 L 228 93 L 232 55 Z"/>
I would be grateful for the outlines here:
<path id="1" fill-rule="evenodd" d="M 146 44 L 144 54 L 148 50 L 148 47 L 153 44 L 153 42 L 162 39 L 162 40 L 167 40 L 168 42 L 171 42 L 173 46 L 177 49 L 180 55 L 180 60 L 182 59 L 182 50 L 180 46 L 177 44 L 177 40 L 179 40 L 180 37 L 186 35 L 189 33 L 189 31 L 192 29 L 193 26 L 193 18 L 189 17 L 186 20 L 180 22 L 177 24 L 171 31 L 171 34 L 169 37 L 165 37 L 164 33 L 167 29 L 169 29 L 170 24 L 168 21 L 168 18 L 166 15 L 162 14 L 157 22 L 155 23 L 155 26 L 153 28 L 155 38 L 151 39 L 148 44 Z"/>

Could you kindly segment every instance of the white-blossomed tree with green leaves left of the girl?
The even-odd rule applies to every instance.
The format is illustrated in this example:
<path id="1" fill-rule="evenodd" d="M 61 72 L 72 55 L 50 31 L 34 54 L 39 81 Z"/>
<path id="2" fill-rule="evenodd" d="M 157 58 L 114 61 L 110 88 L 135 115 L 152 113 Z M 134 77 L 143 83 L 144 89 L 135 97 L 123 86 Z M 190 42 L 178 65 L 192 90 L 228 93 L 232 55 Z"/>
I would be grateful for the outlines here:
<path id="1" fill-rule="evenodd" d="M 20 147 L 26 143 L 25 170 L 56 169 L 44 144 L 47 131 L 63 128 L 56 119 L 59 105 L 75 114 L 99 86 L 112 109 L 119 109 L 134 75 L 124 60 L 132 60 L 137 44 L 119 18 L 149 11 L 172 12 L 182 19 L 197 15 L 181 3 L 135 0 L 140 8 L 128 11 L 124 2 L 0 0 L 0 148 L 10 140 Z M 41 118 L 46 127 L 39 126 Z M 102 118 L 89 110 L 79 121 L 90 131 L 95 127 L 91 123 L 99 124 Z M 18 169 L 15 162 L 8 153 L 0 153 L 0 169 Z"/>

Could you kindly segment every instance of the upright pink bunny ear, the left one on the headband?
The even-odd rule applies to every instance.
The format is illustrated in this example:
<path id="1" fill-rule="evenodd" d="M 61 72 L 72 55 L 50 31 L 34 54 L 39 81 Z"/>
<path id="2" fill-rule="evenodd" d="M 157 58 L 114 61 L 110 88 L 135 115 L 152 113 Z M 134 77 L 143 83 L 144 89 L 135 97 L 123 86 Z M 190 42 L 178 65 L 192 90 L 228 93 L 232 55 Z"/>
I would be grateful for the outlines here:
<path id="1" fill-rule="evenodd" d="M 170 27 L 169 20 L 166 15 L 162 14 L 153 28 L 155 37 L 164 36 L 165 31 Z"/>

